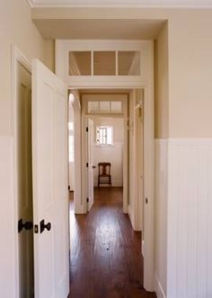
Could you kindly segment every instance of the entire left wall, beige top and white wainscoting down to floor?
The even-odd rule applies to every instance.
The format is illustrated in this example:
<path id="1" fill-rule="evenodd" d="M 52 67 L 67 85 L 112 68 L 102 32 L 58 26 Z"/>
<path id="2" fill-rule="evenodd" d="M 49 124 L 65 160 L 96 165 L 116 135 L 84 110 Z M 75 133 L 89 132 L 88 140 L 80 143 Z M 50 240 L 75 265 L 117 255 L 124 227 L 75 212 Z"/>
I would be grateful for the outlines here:
<path id="1" fill-rule="evenodd" d="M 31 8 L 25 0 L 0 3 L 0 296 L 16 297 L 13 170 L 13 101 L 11 45 L 16 45 L 31 60 L 44 60 L 44 42 L 31 22 Z"/>

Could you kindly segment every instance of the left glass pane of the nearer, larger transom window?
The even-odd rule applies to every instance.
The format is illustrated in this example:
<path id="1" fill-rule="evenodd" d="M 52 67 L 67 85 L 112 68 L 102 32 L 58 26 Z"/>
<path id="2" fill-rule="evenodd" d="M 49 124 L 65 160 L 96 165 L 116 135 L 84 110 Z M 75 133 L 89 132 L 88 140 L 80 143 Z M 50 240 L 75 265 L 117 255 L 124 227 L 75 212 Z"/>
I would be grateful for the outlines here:
<path id="1" fill-rule="evenodd" d="M 69 74 L 70 75 L 91 75 L 92 74 L 91 51 L 69 52 Z"/>

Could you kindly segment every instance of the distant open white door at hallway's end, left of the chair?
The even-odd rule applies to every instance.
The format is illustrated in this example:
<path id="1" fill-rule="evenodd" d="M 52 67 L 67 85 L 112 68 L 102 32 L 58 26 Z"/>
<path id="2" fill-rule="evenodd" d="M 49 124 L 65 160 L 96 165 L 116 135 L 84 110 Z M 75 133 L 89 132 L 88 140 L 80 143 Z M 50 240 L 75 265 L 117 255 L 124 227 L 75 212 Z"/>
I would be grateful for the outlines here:
<path id="1" fill-rule="evenodd" d="M 87 119 L 87 198 L 88 211 L 93 206 L 93 120 Z"/>

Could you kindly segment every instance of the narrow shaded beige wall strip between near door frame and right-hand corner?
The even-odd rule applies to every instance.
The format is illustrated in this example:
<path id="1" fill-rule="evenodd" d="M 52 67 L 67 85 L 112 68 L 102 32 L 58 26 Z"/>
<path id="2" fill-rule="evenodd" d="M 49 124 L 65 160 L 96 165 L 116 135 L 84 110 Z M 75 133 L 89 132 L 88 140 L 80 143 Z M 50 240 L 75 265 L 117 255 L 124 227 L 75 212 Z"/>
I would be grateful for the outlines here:
<path id="1" fill-rule="evenodd" d="M 168 23 L 155 40 L 155 137 L 169 136 Z"/>

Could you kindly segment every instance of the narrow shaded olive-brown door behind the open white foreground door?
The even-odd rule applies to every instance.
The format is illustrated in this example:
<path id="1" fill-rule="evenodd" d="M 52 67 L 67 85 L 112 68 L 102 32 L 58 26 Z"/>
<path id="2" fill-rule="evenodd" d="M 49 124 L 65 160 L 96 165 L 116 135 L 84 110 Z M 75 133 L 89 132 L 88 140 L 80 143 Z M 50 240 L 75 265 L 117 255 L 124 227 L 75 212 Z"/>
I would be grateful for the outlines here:
<path id="1" fill-rule="evenodd" d="M 19 296 L 33 296 L 33 224 L 31 173 L 31 73 L 17 67 L 16 152 Z"/>

